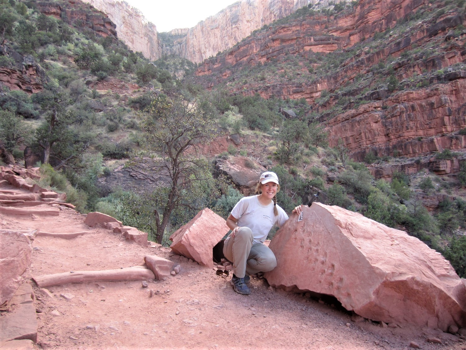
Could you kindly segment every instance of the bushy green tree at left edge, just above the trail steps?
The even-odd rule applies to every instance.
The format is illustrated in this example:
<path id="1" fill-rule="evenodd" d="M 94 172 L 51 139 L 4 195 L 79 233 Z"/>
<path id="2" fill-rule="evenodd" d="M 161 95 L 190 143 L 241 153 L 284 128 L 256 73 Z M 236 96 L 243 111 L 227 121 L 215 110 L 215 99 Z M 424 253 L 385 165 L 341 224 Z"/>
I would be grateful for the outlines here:
<path id="1" fill-rule="evenodd" d="M 12 153 L 14 147 L 21 140 L 28 140 L 30 135 L 29 128 L 20 117 L 12 111 L 0 110 L 0 140 L 8 152 Z"/>

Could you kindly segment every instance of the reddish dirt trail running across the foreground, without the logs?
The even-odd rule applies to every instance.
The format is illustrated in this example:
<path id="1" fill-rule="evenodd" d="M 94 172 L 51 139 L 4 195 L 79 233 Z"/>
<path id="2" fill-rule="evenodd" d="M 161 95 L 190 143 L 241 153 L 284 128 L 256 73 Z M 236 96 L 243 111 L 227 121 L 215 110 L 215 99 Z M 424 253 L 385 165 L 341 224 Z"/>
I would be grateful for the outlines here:
<path id="1" fill-rule="evenodd" d="M 50 205 L 34 208 L 41 207 Z M 411 341 L 427 350 L 466 349 L 462 339 L 441 331 L 353 322 L 344 310 L 270 290 L 265 280 L 251 281 L 251 295 L 235 294 L 230 278 L 217 276 L 213 265 L 199 266 L 168 248 L 138 246 L 107 229 L 89 229 L 75 210 L 55 207 L 59 216 L 0 213 L 1 229 L 89 231 L 73 239 L 36 237 L 26 279 L 138 266 L 147 254 L 171 259 L 182 270 L 149 281 L 147 288 L 141 281 L 99 281 L 48 287 L 53 296 L 46 296 L 33 283 L 38 344 L 44 349 L 407 349 Z M 61 294 L 72 294 L 71 299 Z M 429 336 L 443 345 L 428 343 Z"/>

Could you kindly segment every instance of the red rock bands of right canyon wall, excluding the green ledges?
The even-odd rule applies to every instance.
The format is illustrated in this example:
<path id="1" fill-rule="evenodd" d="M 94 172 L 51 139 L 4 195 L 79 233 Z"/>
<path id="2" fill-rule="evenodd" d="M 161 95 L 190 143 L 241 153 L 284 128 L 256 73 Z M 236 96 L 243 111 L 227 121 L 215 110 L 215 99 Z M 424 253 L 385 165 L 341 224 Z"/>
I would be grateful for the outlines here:
<path id="1" fill-rule="evenodd" d="M 235 72 L 247 66 L 267 64 L 287 55 L 306 59 L 315 57 L 315 52 L 347 50 L 358 42 L 369 44 L 374 33 L 392 28 L 397 20 L 430 6 L 422 0 L 361 0 L 354 11 L 330 21 L 315 15 L 264 30 L 225 55 L 206 60 L 196 74 L 209 88 L 230 76 L 236 77 Z M 296 65 L 299 73 L 293 80 L 276 77 L 265 81 L 248 79 L 244 84 L 233 85 L 229 79 L 226 88 L 232 84 L 235 86 L 233 91 L 259 93 L 264 98 L 306 98 L 314 111 L 321 114 L 319 120 L 327 125 L 330 146 L 335 146 L 342 138 L 351 158 L 357 161 L 362 161 L 369 151 L 378 156 L 414 157 L 445 148 L 462 149 L 466 147 L 465 139 L 458 135 L 458 131 L 466 127 L 466 101 L 461 93 L 466 87 L 466 72 L 436 72 L 465 62 L 466 35 L 445 41 L 449 29 L 465 23 L 465 16 L 457 13 L 446 14 L 433 23 L 418 21 L 403 35 L 390 35 L 384 46 L 359 51 L 324 77 L 318 78 L 310 74 L 307 67 Z M 414 47 L 423 47 L 425 43 L 435 48 L 429 55 L 401 55 Z M 359 104 L 353 98 L 361 91 L 342 92 L 339 89 L 354 82 L 357 76 L 372 75 L 373 66 L 385 62 L 388 57 L 391 57 L 389 63 L 402 88 L 416 88 L 410 81 L 432 72 L 427 77 L 429 87 L 391 94 L 386 86 L 382 86 L 362 98 L 377 102 L 364 102 L 355 108 Z M 316 103 L 316 98 L 324 90 L 330 93 L 330 98 L 324 103 Z M 332 117 L 335 112 L 330 111 L 342 97 L 349 98 L 343 105 L 346 112 Z"/>

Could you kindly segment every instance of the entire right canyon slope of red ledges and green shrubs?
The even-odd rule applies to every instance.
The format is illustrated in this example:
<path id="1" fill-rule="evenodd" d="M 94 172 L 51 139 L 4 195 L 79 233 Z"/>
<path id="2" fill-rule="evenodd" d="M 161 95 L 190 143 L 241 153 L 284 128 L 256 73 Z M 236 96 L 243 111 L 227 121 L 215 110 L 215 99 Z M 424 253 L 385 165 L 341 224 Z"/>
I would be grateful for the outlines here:
<path id="1" fill-rule="evenodd" d="M 303 8 L 199 65 L 206 88 L 305 98 L 351 157 L 464 148 L 464 4 L 362 0 Z M 372 101 L 377 101 L 371 103 Z"/>

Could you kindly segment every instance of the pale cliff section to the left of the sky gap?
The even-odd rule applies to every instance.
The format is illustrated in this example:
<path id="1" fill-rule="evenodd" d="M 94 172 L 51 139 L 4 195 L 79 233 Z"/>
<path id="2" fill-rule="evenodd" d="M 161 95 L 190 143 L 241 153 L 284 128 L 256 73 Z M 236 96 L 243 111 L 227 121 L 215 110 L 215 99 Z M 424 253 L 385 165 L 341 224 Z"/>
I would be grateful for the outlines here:
<path id="1" fill-rule="evenodd" d="M 160 45 L 156 26 L 147 21 L 137 8 L 126 1 L 83 0 L 106 13 L 116 24 L 118 38 L 134 51 L 140 51 L 151 60 L 160 57 Z"/>

